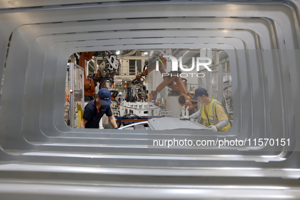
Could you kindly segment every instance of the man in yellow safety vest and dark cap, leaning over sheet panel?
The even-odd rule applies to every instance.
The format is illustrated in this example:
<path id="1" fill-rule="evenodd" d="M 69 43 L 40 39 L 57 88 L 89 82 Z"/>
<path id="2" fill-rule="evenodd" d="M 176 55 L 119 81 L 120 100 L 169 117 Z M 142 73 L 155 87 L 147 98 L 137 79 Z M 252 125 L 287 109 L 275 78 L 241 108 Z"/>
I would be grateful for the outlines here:
<path id="1" fill-rule="evenodd" d="M 225 131 L 231 127 L 223 105 L 211 98 L 205 88 L 197 88 L 191 99 L 197 99 L 201 103 L 200 109 L 190 116 L 180 117 L 181 120 L 190 120 L 201 116 L 201 123 L 208 126 L 213 132 Z"/>

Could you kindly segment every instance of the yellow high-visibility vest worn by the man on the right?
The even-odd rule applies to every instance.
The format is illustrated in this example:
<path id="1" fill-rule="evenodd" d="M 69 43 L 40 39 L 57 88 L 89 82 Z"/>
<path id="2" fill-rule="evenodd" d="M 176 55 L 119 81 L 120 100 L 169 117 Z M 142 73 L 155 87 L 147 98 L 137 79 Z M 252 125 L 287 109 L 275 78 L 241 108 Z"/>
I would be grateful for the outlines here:
<path id="1" fill-rule="evenodd" d="M 204 124 L 206 126 L 209 126 L 209 125 L 216 125 L 217 123 L 219 123 L 219 120 L 216 117 L 216 113 L 215 113 L 215 106 L 217 104 L 220 104 L 222 106 L 222 108 L 223 108 L 223 105 L 219 101 L 217 101 L 216 99 L 212 98 L 212 101 L 211 101 L 211 103 L 208 106 L 208 115 L 206 115 L 205 114 L 205 109 L 204 109 L 204 107 L 205 107 L 204 104 L 205 103 L 203 103 L 200 106 L 200 109 L 199 109 L 199 111 L 200 111 L 200 113 L 202 115 L 202 119 L 204 121 Z M 223 108 L 223 110 L 224 110 L 224 108 Z M 227 116 L 225 110 L 224 110 L 224 113 L 225 113 L 225 115 L 227 117 L 227 120 L 228 120 L 228 116 Z M 221 128 L 221 129 L 218 129 L 218 130 L 225 131 L 225 130 L 228 130 L 230 127 L 231 126 L 230 126 L 230 123 L 229 123 L 229 120 L 228 120 L 228 124 L 225 127 Z"/>

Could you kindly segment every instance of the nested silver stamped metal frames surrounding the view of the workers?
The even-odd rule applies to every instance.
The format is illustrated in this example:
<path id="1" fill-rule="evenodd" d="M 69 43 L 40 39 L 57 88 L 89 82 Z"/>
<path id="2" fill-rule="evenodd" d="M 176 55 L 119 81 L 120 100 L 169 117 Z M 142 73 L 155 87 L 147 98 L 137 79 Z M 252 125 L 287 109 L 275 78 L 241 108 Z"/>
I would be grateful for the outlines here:
<path id="1" fill-rule="evenodd" d="M 1 198 L 298 199 L 299 7 L 297 0 L 0 2 Z M 248 143 L 153 147 L 153 139 L 187 134 L 66 126 L 70 55 L 133 49 L 225 52 L 235 124 L 188 135 Z"/>

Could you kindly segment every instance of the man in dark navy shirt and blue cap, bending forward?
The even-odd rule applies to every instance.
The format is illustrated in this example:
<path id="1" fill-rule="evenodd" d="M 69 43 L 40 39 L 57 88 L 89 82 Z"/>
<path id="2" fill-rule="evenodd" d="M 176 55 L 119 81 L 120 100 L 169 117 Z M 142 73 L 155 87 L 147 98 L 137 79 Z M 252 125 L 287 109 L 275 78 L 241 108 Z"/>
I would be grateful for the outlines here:
<path id="1" fill-rule="evenodd" d="M 99 128 L 99 122 L 104 114 L 108 116 L 112 127 L 118 129 L 116 119 L 111 111 L 111 92 L 102 88 L 98 91 L 97 98 L 84 107 L 80 128 Z"/>

